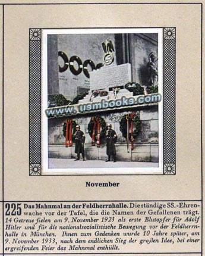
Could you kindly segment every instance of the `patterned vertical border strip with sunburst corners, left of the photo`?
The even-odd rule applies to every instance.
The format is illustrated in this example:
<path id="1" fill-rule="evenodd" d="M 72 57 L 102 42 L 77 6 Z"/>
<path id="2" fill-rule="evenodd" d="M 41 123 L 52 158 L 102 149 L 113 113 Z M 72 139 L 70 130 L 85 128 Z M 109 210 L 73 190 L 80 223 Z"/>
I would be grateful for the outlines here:
<path id="1" fill-rule="evenodd" d="M 29 30 L 29 174 L 41 175 L 41 29 Z"/>

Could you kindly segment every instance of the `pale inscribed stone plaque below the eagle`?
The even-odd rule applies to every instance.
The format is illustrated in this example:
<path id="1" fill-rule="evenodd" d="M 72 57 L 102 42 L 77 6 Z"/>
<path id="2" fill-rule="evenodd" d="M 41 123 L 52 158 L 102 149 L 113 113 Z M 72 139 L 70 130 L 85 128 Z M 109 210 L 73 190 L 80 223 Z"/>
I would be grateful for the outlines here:
<path id="1" fill-rule="evenodd" d="M 90 90 L 124 86 L 131 82 L 131 64 L 103 67 L 90 72 Z"/>

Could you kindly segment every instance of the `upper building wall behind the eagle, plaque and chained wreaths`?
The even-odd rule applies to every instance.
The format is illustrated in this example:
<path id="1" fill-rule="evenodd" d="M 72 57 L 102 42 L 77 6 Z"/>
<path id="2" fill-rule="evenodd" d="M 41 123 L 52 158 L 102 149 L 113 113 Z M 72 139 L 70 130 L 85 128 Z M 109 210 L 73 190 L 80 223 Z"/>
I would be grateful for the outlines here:
<path id="1" fill-rule="evenodd" d="M 64 65 L 58 51 L 65 52 L 68 59 L 77 55 L 82 62 L 92 60 L 95 65 L 103 63 L 102 42 L 111 39 L 115 47 L 112 65 L 131 63 L 132 82 L 149 85 L 147 63 L 150 52 L 157 55 L 157 34 L 89 34 L 89 35 L 49 35 L 48 36 L 48 93 L 61 93 L 72 100 L 78 88 L 89 89 L 90 80 L 83 71 L 77 76 L 69 67 L 59 73 L 58 65 Z M 74 67 L 78 65 L 74 62 Z M 88 65 L 88 70 L 91 68 Z"/>

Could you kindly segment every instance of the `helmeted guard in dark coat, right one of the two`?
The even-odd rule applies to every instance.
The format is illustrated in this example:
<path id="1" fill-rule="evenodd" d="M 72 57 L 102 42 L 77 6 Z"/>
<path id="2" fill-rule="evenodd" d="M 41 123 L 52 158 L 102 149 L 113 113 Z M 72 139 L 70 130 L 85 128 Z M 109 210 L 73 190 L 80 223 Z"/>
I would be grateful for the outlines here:
<path id="1" fill-rule="evenodd" d="M 108 155 L 108 159 L 106 162 L 111 161 L 111 155 L 113 156 L 113 162 L 116 162 L 116 149 L 115 143 L 116 139 L 118 138 L 116 132 L 111 129 L 112 125 L 107 125 L 107 132 L 106 132 L 106 154 Z"/>

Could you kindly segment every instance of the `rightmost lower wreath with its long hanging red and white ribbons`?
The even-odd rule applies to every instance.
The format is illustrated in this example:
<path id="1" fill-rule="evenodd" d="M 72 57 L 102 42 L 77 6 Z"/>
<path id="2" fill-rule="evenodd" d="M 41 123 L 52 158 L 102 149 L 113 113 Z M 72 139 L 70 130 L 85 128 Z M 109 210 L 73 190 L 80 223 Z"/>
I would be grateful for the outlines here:
<path id="1" fill-rule="evenodd" d="M 129 141 L 131 140 L 131 150 L 134 149 L 134 139 L 141 131 L 141 120 L 138 114 L 131 113 L 122 117 L 119 122 L 119 130 L 122 136 L 127 139 L 127 151 L 129 152 Z"/>

